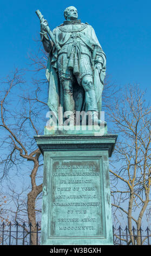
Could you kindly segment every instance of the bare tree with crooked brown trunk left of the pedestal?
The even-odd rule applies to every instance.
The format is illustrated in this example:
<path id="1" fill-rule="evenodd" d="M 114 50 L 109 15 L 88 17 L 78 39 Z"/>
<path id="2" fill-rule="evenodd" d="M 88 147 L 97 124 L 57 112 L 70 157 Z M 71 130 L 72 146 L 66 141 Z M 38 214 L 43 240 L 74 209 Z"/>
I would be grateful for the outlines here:
<path id="1" fill-rule="evenodd" d="M 1 131 L 4 135 L 1 140 L 1 157 L 2 177 L 8 175 L 12 168 L 16 171 L 24 171 L 25 160 L 30 161 L 31 189 L 28 193 L 27 212 L 29 223 L 32 224 L 32 230 L 36 230 L 36 209 L 35 201 L 42 192 L 42 182 L 38 184 L 37 172 L 43 165 L 41 152 L 37 148 L 34 135 L 43 131 L 43 106 L 44 102 L 37 100 L 37 94 L 40 90 L 36 89 L 36 84 L 29 85 L 30 93 L 36 94 L 35 101 L 29 100 L 28 86 L 24 85 L 21 71 L 15 70 L 11 76 L 8 76 L 2 83 L 1 90 Z M 25 97 L 25 90 L 27 91 Z M 32 92 L 34 90 L 34 93 Z M 18 100 L 19 99 L 19 100 Z M 39 104 L 39 105 L 38 105 Z M 42 106 L 41 106 L 42 105 Z M 42 115 L 42 118 L 41 118 Z M 44 114 L 45 116 L 45 114 Z M 1 154 L 2 155 L 2 154 Z M 24 164 L 23 164 L 24 163 Z M 26 167 L 27 168 L 27 167 Z M 36 244 L 36 235 L 32 233 L 32 245 Z"/>

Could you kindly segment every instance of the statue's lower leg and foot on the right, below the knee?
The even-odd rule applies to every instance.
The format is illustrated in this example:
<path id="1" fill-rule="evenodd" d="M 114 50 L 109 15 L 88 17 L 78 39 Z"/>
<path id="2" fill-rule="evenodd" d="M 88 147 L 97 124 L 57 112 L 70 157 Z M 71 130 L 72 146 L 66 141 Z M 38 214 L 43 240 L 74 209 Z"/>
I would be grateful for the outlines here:
<path id="1" fill-rule="evenodd" d="M 98 108 L 97 108 L 97 100 L 96 100 L 95 90 L 88 90 L 86 92 L 85 96 L 86 96 L 87 109 L 88 109 L 89 117 L 90 117 L 90 124 L 106 126 L 107 122 L 102 121 L 98 118 Z"/>

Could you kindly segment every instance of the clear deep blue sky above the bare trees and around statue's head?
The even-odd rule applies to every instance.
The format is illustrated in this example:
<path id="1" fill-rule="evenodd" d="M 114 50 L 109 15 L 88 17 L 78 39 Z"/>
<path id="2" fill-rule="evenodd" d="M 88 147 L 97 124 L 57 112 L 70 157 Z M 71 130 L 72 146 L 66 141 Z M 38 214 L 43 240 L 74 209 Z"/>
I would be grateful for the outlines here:
<path id="1" fill-rule="evenodd" d="M 94 27 L 107 55 L 111 81 L 124 86 L 140 83 L 150 93 L 151 28 L 149 0 L 115 1 L 2 1 L 1 72 L 4 77 L 15 66 L 25 68 L 28 53 L 35 51 L 40 23 L 35 14 L 40 9 L 51 29 L 63 22 L 69 5 L 78 10 L 82 22 Z"/>

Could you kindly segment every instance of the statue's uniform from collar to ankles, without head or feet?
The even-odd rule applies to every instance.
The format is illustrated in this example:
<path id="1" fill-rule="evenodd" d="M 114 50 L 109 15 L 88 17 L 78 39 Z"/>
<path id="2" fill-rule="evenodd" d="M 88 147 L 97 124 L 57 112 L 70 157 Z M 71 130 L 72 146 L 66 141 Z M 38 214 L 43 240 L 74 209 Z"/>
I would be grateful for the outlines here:
<path id="1" fill-rule="evenodd" d="M 64 21 L 53 30 L 53 34 L 61 47 L 58 52 L 46 33 L 41 33 L 41 38 L 45 51 L 51 54 L 50 65 L 57 70 L 63 86 L 64 110 L 74 111 L 73 82 L 77 80 L 78 86 L 85 91 L 87 111 L 98 111 L 94 65 L 100 63 L 103 66 L 106 57 L 94 29 L 80 20 Z M 94 48 L 96 54 L 93 59 Z"/>

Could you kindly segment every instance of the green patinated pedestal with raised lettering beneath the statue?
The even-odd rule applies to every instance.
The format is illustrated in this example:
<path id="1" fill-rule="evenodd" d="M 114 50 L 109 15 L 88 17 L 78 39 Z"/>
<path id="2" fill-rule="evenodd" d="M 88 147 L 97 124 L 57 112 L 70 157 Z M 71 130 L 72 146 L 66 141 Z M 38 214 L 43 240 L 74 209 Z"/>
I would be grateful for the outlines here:
<path id="1" fill-rule="evenodd" d="M 117 135 L 45 131 L 42 245 L 113 245 L 109 161 Z M 53 134 L 52 134 L 53 133 Z"/>

